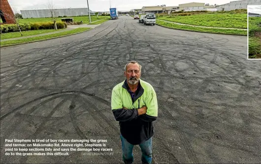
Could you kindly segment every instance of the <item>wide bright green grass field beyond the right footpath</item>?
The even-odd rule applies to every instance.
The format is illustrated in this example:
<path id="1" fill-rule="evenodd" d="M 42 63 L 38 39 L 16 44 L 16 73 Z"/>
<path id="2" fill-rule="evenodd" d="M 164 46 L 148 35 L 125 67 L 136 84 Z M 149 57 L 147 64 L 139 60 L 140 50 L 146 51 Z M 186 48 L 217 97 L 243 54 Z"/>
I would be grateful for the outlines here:
<path id="1" fill-rule="evenodd" d="M 194 14 L 190 16 L 172 17 L 163 16 L 158 17 L 157 19 L 196 26 L 247 29 L 247 14 L 242 13 Z"/>

